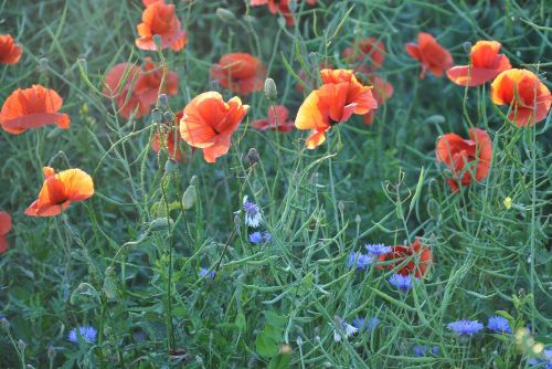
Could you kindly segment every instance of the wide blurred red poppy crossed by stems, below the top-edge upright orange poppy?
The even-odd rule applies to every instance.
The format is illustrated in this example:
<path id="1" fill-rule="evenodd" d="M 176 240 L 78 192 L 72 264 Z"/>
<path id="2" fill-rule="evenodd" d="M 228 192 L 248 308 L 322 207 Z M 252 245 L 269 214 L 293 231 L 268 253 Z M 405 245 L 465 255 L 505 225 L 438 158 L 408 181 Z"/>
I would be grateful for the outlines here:
<path id="1" fill-rule="evenodd" d="M 160 89 L 162 68 L 147 57 L 145 71 L 134 64 L 119 63 L 107 72 L 104 94 L 114 98 L 118 113 L 129 119 L 135 113 L 138 119 L 147 115 L 157 103 L 158 94 L 176 95 L 178 93 L 178 75 L 166 71 L 163 88 Z"/>

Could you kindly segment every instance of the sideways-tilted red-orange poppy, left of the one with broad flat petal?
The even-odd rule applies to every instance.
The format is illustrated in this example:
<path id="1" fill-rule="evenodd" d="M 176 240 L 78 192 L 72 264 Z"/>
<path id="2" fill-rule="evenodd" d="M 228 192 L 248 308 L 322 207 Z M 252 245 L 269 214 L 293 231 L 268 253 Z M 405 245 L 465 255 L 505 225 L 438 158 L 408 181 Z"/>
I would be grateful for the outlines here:
<path id="1" fill-rule="evenodd" d="M 420 73 L 422 80 L 425 77 L 426 71 L 440 77 L 446 70 L 453 66 L 453 56 L 448 50 L 439 45 L 429 33 L 420 32 L 417 44 L 411 42 L 405 48 L 408 55 L 418 60 L 422 64 L 422 72 Z"/>

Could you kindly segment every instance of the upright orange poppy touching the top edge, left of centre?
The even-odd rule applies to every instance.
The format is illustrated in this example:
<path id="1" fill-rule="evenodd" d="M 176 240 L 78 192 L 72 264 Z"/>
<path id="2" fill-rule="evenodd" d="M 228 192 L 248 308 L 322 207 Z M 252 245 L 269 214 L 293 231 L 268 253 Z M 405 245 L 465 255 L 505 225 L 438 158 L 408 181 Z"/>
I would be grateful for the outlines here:
<path id="1" fill-rule="evenodd" d="M 156 34 L 161 36 L 161 50 L 170 48 L 180 51 L 185 45 L 187 34 L 174 13 L 174 4 L 164 1 L 151 2 L 141 14 L 141 23 L 137 25 L 136 46 L 141 50 L 157 51 L 153 41 Z"/>

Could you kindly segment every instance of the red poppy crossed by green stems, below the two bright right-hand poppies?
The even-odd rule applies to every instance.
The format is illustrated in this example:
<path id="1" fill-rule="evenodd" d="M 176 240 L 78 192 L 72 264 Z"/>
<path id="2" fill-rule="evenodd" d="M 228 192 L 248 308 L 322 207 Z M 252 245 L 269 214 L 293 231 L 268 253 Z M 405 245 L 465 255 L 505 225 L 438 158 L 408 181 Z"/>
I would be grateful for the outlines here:
<path id="1" fill-rule="evenodd" d="M 453 192 L 458 191 L 458 184 L 469 186 L 474 177 L 476 181 L 480 181 L 489 175 L 492 141 L 484 129 L 470 128 L 468 133 L 469 139 L 446 134 L 437 140 L 435 155 L 437 161 L 444 162 L 453 175 L 447 179 Z"/>

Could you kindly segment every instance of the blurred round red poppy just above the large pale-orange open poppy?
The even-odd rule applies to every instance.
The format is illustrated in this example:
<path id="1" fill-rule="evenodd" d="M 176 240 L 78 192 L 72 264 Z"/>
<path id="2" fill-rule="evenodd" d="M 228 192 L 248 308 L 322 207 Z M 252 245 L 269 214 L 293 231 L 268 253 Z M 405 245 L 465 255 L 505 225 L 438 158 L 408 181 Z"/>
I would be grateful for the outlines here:
<path id="1" fill-rule="evenodd" d="M 264 87 L 266 68 L 255 56 L 247 53 L 230 53 L 211 67 L 211 78 L 235 94 L 248 95 Z"/>

